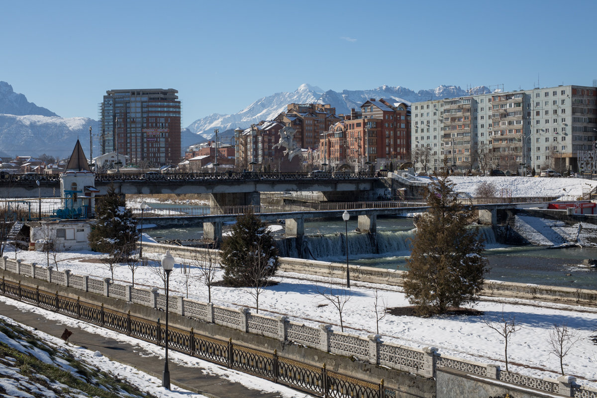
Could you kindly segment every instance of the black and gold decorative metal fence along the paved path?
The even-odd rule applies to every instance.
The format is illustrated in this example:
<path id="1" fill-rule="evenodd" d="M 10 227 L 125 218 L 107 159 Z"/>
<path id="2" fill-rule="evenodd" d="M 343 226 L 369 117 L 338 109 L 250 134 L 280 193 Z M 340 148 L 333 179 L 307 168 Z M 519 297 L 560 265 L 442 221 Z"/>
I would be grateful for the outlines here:
<path id="1" fill-rule="evenodd" d="M 130 311 L 121 311 L 85 303 L 79 299 L 63 297 L 57 293 L 21 285 L 2 279 L 2 294 L 20 301 L 35 304 L 76 319 L 82 319 L 113 331 L 140 338 L 158 345 L 164 345 L 165 325 L 158 320 L 132 316 Z M 168 326 L 168 347 L 181 353 L 199 357 L 209 362 L 227 366 L 230 369 L 255 375 L 260 378 L 296 388 L 320 397 L 385 398 L 396 396 L 396 390 L 384 387 L 384 382 L 374 383 L 338 372 L 328 371 L 323 366 L 290 359 L 273 353 L 256 350 L 232 339 L 220 340 Z M 404 391 L 402 391 L 404 393 Z"/>

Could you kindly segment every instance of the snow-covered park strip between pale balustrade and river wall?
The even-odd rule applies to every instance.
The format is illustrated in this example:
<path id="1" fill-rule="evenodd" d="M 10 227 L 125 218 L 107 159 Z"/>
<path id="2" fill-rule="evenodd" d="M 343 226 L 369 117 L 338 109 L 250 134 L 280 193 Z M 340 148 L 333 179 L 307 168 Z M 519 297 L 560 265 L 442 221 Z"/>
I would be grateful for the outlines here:
<path id="1" fill-rule="evenodd" d="M 10 252 L 8 253 L 10 255 Z M 94 277 L 109 277 L 110 273 L 97 263 L 88 260 L 99 255 L 92 252 L 70 252 L 59 254 L 60 270 L 70 269 L 76 274 L 88 274 Z M 28 263 L 45 264 L 44 253 L 22 252 L 19 258 Z M 156 257 L 157 260 L 157 257 Z M 180 272 L 180 263 L 188 260 L 177 258 L 176 269 L 171 274 L 170 286 L 173 292 L 184 295 L 185 278 Z M 158 266 L 158 262 L 154 264 Z M 191 269 L 196 264 L 191 264 Z M 137 285 L 158 286 L 161 281 L 147 268 L 139 268 L 135 274 Z M 587 270 L 590 271 L 590 270 Z M 120 267 L 115 271 L 116 282 L 130 282 L 130 270 Z M 270 286 L 260 295 L 260 313 L 274 316 L 287 315 L 291 320 L 316 326 L 331 323 L 339 331 L 338 313 L 330 304 L 322 301 L 318 289 L 333 284 L 341 288 L 343 280 L 328 280 L 324 277 L 310 277 L 304 274 L 279 273 L 274 278 L 277 285 Z M 205 286 L 191 281 L 189 298 L 207 301 Z M 350 300 L 343 313 L 345 331 L 368 335 L 376 332 L 374 313 L 374 289 L 378 288 L 381 300 L 386 307 L 408 306 L 400 288 L 388 285 L 353 282 Z M 214 287 L 214 304 L 224 306 L 254 307 L 253 297 L 247 289 Z M 327 304 L 327 305 L 326 305 Z M 586 308 L 552 303 L 537 303 L 515 299 L 486 299 L 473 306 L 485 312 L 485 319 L 497 319 L 501 316 L 514 317 L 522 329 L 509 341 L 509 360 L 511 371 L 535 377 L 557 377 L 558 359 L 550 354 L 546 341 L 553 323 L 567 323 L 576 331 L 581 340 L 565 357 L 565 372 L 579 378 L 580 384 L 597 385 L 597 345 L 589 337 L 595 335 L 597 328 L 597 308 Z M 404 344 L 411 347 L 435 346 L 443 354 L 450 354 L 463 359 L 485 363 L 503 364 L 503 341 L 497 332 L 491 330 L 481 316 L 436 316 L 429 319 L 411 316 L 387 315 L 380 321 L 380 334 L 384 341 Z M 520 364 L 514 365 L 514 364 Z M 583 380 L 584 379 L 584 380 Z M 587 382 L 588 381 L 588 382 Z"/>

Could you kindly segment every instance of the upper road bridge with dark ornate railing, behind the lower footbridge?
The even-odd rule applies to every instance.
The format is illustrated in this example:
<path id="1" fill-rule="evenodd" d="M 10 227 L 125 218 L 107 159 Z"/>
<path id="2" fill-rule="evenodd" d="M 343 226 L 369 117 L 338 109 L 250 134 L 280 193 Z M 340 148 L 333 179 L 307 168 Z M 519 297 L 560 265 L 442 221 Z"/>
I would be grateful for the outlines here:
<path id="1" fill-rule="evenodd" d="M 36 183 L 39 181 L 39 187 Z M 259 205 L 260 192 L 322 192 L 328 200 L 338 194 L 353 200 L 377 196 L 380 184 L 374 172 L 223 172 L 168 174 L 97 174 L 97 195 L 110 186 L 123 194 L 209 193 L 219 206 Z M 56 194 L 58 193 L 58 195 Z M 60 195 L 60 176 L 48 174 L 1 174 L 0 198 L 56 198 Z"/>

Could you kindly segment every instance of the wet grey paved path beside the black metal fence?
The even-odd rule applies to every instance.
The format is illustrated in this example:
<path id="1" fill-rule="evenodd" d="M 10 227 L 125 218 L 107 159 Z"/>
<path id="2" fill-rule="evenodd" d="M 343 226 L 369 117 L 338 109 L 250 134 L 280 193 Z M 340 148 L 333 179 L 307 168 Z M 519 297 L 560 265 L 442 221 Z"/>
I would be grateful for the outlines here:
<path id="1" fill-rule="evenodd" d="M 27 304 L 29 305 L 29 304 Z M 35 306 L 32 306 L 35 307 Z M 10 317 L 24 325 L 37 328 L 39 331 L 60 337 L 65 325 L 56 323 L 54 320 L 45 319 L 38 313 L 32 311 L 21 311 L 16 306 L 7 304 L 0 300 L 0 314 Z M 70 343 L 87 348 L 91 351 L 100 351 L 104 356 L 116 362 L 133 366 L 149 375 L 161 380 L 164 371 L 164 359 L 159 359 L 155 354 L 144 351 L 137 345 L 131 345 L 122 341 L 113 340 L 103 335 L 93 334 L 82 329 L 67 326 L 73 332 Z M 263 393 L 260 390 L 247 388 L 238 382 L 232 382 L 214 375 L 202 374 L 201 368 L 187 368 L 170 362 L 170 381 L 185 390 L 195 393 L 202 393 L 214 398 L 280 398 L 281 394 Z M 255 378 L 256 382 L 267 382 Z M 282 386 L 281 386 L 282 387 Z M 297 397 L 304 397 L 306 394 L 296 392 Z"/>

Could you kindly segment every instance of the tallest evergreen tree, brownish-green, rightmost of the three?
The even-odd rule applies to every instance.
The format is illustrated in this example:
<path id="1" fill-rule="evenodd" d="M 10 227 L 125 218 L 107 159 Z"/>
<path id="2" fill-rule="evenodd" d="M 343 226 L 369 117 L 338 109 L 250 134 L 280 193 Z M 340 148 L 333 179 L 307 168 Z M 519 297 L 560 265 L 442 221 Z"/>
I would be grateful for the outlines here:
<path id="1" fill-rule="evenodd" d="M 467 228 L 472 211 L 456 199 L 444 173 L 427 191 L 429 210 L 416 221 L 404 292 L 422 315 L 473 303 L 488 270 L 482 238 Z"/>

